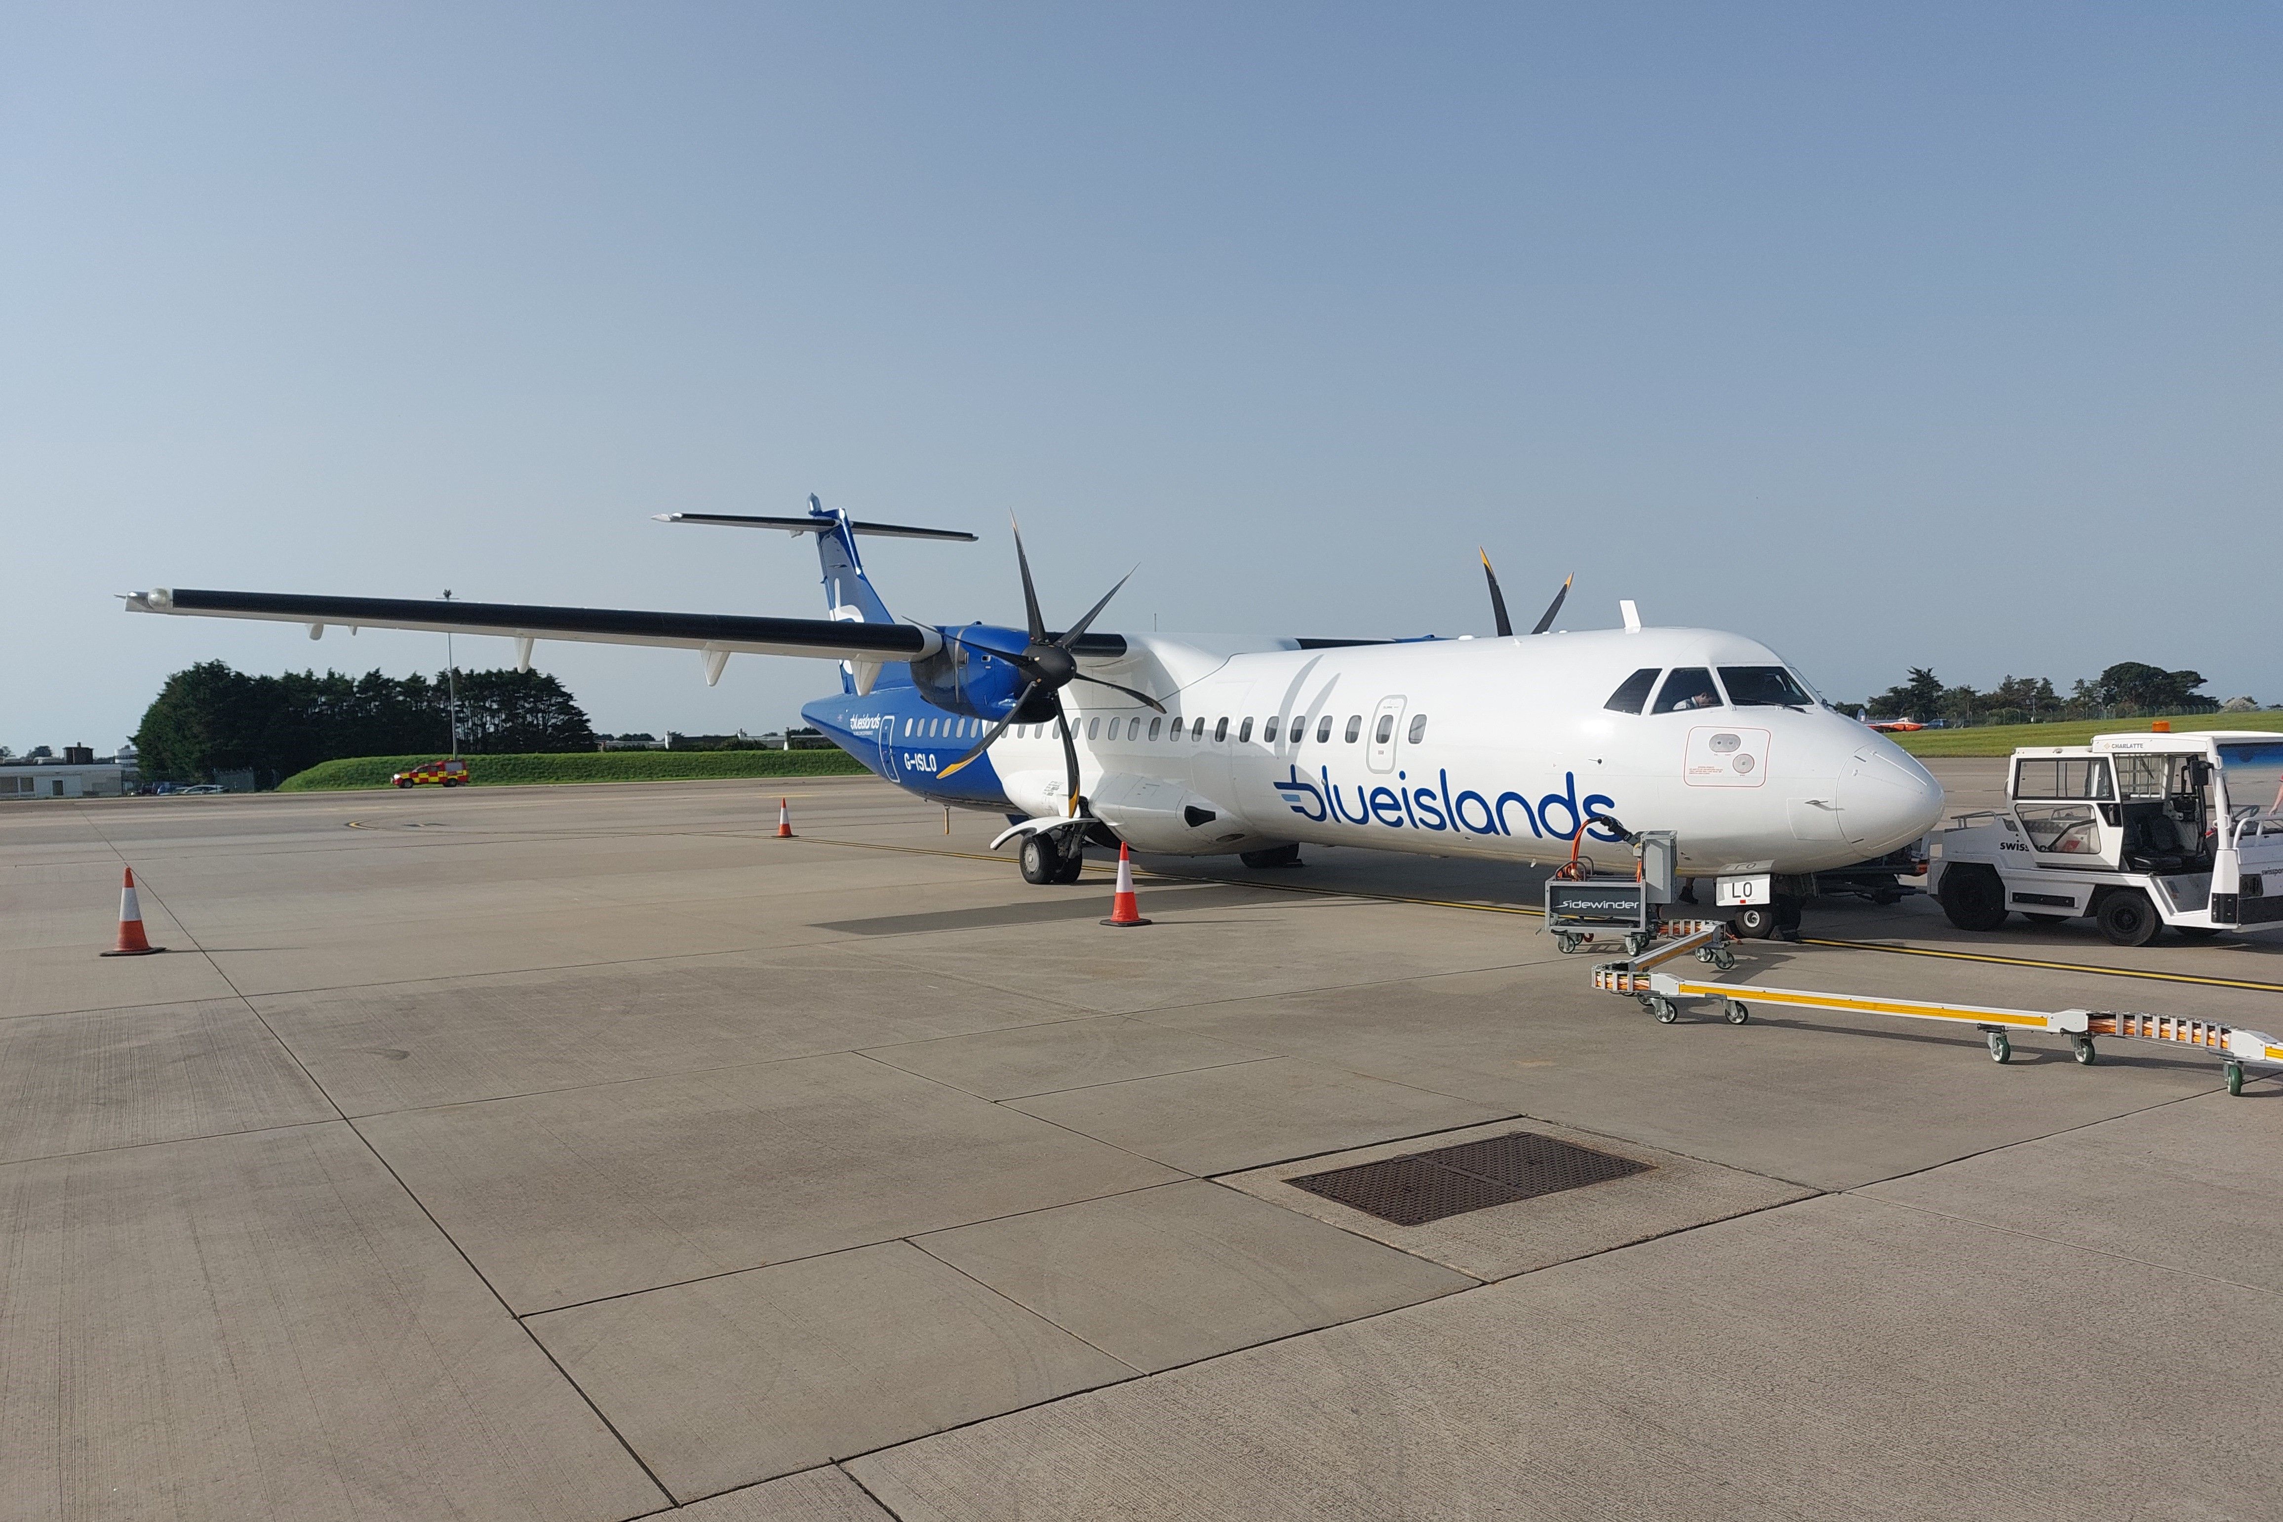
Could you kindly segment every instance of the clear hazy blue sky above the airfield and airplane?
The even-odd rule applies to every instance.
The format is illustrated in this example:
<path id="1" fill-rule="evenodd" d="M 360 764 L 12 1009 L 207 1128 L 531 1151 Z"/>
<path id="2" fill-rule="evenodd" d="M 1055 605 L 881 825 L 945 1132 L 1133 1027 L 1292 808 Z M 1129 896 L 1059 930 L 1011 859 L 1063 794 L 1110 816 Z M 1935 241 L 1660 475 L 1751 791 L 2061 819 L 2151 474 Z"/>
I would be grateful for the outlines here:
<path id="1" fill-rule="evenodd" d="M 1767 639 L 1833 696 L 2283 701 L 2283 11 L 11 5 L 0 742 L 443 641 L 237 586 L 779 612 L 806 493 L 915 618 Z M 466 641 L 461 664 L 505 664 Z M 808 662 L 541 646 L 598 728 Z"/>

